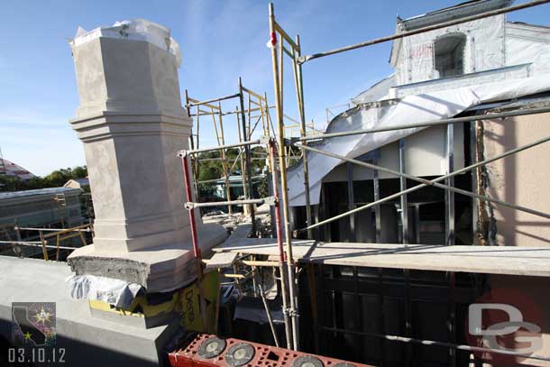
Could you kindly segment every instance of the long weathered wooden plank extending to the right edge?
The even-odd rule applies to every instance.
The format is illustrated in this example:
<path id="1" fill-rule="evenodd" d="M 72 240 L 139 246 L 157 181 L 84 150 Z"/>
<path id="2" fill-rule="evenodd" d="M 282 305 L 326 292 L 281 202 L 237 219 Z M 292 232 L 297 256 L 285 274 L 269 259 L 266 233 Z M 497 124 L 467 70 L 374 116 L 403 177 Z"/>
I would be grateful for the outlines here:
<path id="1" fill-rule="evenodd" d="M 550 247 L 316 243 L 302 262 L 550 277 Z"/>

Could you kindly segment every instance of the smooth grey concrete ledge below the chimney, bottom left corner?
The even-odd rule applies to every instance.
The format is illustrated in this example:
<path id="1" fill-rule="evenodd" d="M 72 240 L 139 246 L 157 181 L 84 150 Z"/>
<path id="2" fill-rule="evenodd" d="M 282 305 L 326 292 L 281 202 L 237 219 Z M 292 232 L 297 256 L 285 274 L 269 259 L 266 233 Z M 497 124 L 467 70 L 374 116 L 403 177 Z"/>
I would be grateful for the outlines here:
<path id="1" fill-rule="evenodd" d="M 71 272 L 64 262 L 0 256 L 0 269 L 0 335 L 5 340 L 11 340 L 12 302 L 56 302 L 56 346 L 66 350 L 65 365 L 165 365 L 162 347 L 178 332 L 177 322 L 144 330 L 92 317 L 87 302 L 70 298 L 65 280 Z"/>

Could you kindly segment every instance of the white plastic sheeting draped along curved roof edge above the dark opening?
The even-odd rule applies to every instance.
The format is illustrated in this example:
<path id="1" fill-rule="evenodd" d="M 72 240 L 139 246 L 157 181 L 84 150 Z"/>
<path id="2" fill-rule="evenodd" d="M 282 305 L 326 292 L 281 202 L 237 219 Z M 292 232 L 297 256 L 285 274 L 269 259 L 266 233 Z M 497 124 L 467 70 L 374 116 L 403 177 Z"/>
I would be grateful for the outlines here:
<path id="1" fill-rule="evenodd" d="M 326 133 L 418 124 L 444 119 L 458 115 L 481 103 L 529 96 L 547 90 L 550 90 L 550 75 L 406 96 L 393 106 L 353 108 L 347 113 L 336 116 L 329 124 Z M 355 158 L 423 129 L 425 127 L 330 138 L 316 143 L 316 148 L 347 158 Z M 323 178 L 342 161 L 312 152 L 307 154 L 307 161 L 311 204 L 316 205 L 319 203 Z M 289 170 L 288 185 L 289 205 L 305 206 L 304 174 L 301 162 Z"/>

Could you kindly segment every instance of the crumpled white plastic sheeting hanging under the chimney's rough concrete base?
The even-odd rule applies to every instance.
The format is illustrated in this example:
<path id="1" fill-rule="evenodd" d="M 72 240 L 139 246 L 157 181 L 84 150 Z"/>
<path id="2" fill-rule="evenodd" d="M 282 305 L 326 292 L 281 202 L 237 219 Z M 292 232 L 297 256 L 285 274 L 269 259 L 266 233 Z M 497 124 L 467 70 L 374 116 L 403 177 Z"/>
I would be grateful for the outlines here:
<path id="1" fill-rule="evenodd" d="M 73 275 L 67 282 L 72 298 L 99 300 L 122 308 L 130 307 L 142 289 L 140 284 L 95 275 Z"/>

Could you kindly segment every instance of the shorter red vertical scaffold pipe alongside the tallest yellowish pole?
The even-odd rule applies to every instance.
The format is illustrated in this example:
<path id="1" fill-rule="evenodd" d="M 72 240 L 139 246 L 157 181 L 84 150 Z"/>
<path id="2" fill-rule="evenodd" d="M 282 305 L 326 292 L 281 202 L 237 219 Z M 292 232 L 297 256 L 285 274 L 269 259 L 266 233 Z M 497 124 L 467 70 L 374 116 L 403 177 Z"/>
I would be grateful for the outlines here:
<path id="1" fill-rule="evenodd" d="M 275 140 L 270 139 L 270 164 L 271 164 L 271 178 L 273 180 L 273 197 L 275 197 L 275 235 L 277 236 L 277 244 L 279 246 L 279 270 L 280 270 L 280 284 L 281 284 L 281 298 L 283 310 L 289 308 L 289 294 L 287 292 L 287 269 L 285 268 L 285 250 L 282 243 L 282 228 L 280 223 L 280 197 L 279 197 L 279 177 L 277 176 L 277 157 L 276 157 L 276 143 Z M 290 348 L 292 335 L 289 313 L 283 312 L 285 322 L 285 335 L 287 337 L 287 346 Z"/>

